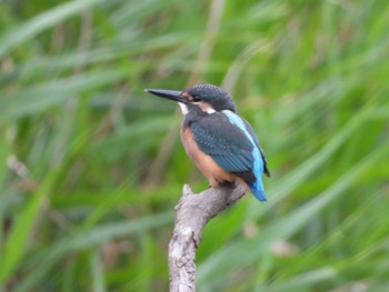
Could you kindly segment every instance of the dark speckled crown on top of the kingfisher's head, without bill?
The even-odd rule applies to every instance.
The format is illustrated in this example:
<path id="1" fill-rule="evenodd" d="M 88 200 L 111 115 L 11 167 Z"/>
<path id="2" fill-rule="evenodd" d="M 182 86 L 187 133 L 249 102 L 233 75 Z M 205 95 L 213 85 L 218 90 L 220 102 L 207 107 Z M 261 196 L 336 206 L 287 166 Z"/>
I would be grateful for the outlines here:
<path id="1" fill-rule="evenodd" d="M 237 112 L 230 93 L 212 84 L 197 84 L 187 90 L 190 95 L 208 102 L 216 111 L 230 110 Z"/>

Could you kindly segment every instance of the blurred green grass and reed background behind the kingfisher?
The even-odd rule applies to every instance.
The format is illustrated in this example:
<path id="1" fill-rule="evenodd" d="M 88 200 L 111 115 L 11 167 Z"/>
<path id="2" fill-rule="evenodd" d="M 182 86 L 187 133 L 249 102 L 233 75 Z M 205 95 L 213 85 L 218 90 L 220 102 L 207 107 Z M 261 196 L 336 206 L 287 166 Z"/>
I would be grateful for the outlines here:
<path id="1" fill-rule="evenodd" d="M 199 291 L 388 291 L 389 1 L 0 1 L 0 290 L 167 291 L 177 105 L 222 85 L 271 179 L 207 226 Z"/>

